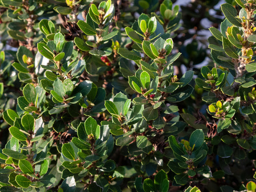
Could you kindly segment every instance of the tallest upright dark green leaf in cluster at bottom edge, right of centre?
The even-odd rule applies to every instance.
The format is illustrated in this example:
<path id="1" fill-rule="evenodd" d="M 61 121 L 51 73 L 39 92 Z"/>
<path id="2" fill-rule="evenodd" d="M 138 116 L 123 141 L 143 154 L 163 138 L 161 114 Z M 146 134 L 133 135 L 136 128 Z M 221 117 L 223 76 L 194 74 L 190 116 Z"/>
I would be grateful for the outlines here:
<path id="1" fill-rule="evenodd" d="M 167 174 L 163 170 L 158 171 L 158 173 L 155 176 L 155 186 L 156 186 L 157 190 L 162 191 L 162 192 L 168 191 L 169 181 L 166 182 L 165 180 L 168 181 Z"/>

